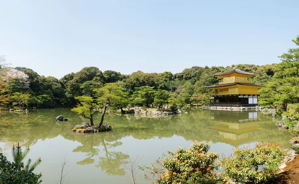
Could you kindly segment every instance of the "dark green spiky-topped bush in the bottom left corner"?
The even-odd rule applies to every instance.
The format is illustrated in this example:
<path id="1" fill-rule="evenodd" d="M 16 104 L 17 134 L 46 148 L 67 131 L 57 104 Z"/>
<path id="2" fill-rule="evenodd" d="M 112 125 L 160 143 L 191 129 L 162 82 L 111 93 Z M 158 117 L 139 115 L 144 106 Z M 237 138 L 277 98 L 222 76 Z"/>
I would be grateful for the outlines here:
<path id="1" fill-rule="evenodd" d="M 32 165 L 28 159 L 26 165 L 22 162 L 29 152 L 29 148 L 22 152 L 19 144 L 12 148 L 13 162 L 7 161 L 7 158 L 0 153 L 0 184 L 39 184 L 41 183 L 41 174 L 36 175 L 33 170 L 41 162 L 37 159 Z"/>

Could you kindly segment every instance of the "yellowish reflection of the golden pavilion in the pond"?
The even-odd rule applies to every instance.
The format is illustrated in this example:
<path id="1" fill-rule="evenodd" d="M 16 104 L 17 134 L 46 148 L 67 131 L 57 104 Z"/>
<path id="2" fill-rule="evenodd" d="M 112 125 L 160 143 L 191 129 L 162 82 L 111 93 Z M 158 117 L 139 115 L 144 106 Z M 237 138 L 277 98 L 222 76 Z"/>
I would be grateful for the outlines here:
<path id="1" fill-rule="evenodd" d="M 258 128 L 258 112 L 256 111 L 211 111 L 211 123 L 208 129 L 218 131 L 220 142 L 233 146 L 254 141 L 254 132 Z"/>

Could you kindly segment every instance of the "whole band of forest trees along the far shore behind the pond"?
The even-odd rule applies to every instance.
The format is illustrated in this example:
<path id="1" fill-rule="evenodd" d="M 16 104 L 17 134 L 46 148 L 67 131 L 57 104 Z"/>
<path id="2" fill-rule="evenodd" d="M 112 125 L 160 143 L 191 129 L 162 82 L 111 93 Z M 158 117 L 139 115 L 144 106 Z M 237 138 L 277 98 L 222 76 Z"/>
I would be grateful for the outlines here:
<path id="1" fill-rule="evenodd" d="M 261 105 L 276 105 L 287 110 L 288 104 L 299 103 L 299 36 L 293 42 L 297 48 L 289 49 L 288 53 L 281 55 L 282 62 L 279 64 L 236 66 L 240 70 L 255 73 L 253 83 L 265 85 L 260 90 Z M 76 97 L 96 98 L 96 89 L 117 82 L 123 83 L 122 88 L 128 94 L 124 106 L 203 105 L 208 104 L 210 93 L 204 87 L 218 82 L 214 76 L 216 73 L 234 67 L 194 66 L 177 74 L 137 71 L 131 75 L 85 67 L 77 73 L 56 79 L 40 76 L 23 67 L 9 68 L 5 64 L 5 56 L 0 56 L 0 106 L 21 109 L 74 107 L 78 102 Z"/>

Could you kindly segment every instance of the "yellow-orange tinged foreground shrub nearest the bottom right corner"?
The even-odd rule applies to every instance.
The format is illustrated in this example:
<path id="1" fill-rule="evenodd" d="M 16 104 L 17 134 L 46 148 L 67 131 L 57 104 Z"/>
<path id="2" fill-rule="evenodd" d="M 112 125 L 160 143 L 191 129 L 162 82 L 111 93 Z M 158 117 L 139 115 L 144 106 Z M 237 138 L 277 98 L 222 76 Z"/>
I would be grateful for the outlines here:
<path id="1" fill-rule="evenodd" d="M 236 183 L 264 184 L 274 179 L 288 155 L 280 145 L 259 143 L 253 149 L 236 148 L 234 156 L 222 158 L 224 175 Z"/>

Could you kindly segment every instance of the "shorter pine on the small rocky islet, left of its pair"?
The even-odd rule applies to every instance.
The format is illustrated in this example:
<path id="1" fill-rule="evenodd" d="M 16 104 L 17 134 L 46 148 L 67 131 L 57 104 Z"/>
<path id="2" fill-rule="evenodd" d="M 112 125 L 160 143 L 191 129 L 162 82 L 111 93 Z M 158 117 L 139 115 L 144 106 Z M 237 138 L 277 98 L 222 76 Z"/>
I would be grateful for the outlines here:
<path id="1" fill-rule="evenodd" d="M 77 112 L 84 118 L 89 119 L 90 125 L 94 126 L 93 115 L 99 112 L 99 105 L 90 96 L 77 96 L 75 99 L 79 101 L 78 106 L 71 110 Z"/>

